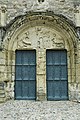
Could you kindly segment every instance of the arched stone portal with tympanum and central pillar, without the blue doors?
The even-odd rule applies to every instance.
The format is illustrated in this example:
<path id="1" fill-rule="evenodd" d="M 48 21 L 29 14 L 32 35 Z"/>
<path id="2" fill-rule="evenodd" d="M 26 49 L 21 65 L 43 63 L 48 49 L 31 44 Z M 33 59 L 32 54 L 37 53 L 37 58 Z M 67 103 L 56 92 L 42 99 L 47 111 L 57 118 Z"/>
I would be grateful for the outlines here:
<path id="1" fill-rule="evenodd" d="M 36 100 L 47 99 L 46 51 L 67 51 L 68 97 L 76 83 L 77 36 L 74 27 L 53 13 L 29 13 L 15 18 L 3 42 L 6 98 L 15 97 L 16 50 L 36 50 Z M 67 99 L 68 99 L 67 97 Z"/>

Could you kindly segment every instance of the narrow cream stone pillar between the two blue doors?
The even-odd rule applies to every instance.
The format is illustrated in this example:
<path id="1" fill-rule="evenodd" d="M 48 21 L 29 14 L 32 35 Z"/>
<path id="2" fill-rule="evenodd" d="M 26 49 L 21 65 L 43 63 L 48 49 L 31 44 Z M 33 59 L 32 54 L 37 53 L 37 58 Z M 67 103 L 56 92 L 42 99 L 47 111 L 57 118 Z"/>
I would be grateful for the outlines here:
<path id="1" fill-rule="evenodd" d="M 46 51 L 37 51 L 37 100 L 46 100 Z"/>

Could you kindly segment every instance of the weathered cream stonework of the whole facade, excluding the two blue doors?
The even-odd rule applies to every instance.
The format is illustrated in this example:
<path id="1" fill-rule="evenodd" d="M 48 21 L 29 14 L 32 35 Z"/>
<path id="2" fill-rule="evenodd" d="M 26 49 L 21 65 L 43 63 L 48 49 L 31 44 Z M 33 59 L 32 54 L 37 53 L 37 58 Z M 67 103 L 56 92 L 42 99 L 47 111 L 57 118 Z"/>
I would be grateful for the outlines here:
<path id="1" fill-rule="evenodd" d="M 22 15 L 8 25 L 3 41 L 0 39 L 0 81 L 5 84 L 7 99 L 14 98 L 16 49 L 36 49 L 37 99 L 46 99 L 46 50 L 66 49 L 69 99 L 80 101 L 80 42 L 71 26 L 72 22 L 80 26 L 79 4 L 79 0 L 0 0 L 0 26 Z"/>

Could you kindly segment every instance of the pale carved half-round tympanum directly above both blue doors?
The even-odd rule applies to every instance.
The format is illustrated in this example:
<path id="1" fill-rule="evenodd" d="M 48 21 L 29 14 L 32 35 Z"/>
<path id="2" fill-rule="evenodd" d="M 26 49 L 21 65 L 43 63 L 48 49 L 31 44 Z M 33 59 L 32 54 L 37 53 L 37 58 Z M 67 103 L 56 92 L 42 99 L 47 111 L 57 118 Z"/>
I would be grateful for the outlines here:
<path id="1" fill-rule="evenodd" d="M 56 31 L 42 26 L 28 29 L 17 38 L 18 48 L 36 48 L 40 51 L 49 48 L 64 48 L 64 40 Z"/>

